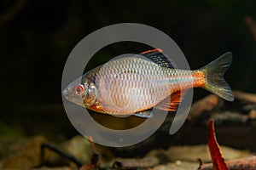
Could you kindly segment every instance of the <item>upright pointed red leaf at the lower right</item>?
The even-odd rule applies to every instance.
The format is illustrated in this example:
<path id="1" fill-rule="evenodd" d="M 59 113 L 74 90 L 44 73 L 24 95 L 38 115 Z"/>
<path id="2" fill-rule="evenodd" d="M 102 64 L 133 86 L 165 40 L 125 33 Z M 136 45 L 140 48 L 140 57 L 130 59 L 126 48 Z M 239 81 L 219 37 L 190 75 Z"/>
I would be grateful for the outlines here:
<path id="1" fill-rule="evenodd" d="M 209 122 L 208 147 L 212 157 L 213 170 L 228 170 L 215 136 L 213 120 Z"/>

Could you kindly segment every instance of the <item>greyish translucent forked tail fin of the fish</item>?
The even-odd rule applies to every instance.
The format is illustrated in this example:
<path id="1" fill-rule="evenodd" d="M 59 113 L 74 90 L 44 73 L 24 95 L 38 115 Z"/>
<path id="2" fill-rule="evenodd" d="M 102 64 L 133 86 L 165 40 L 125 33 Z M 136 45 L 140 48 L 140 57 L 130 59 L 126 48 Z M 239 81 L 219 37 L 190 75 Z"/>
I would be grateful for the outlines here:
<path id="1" fill-rule="evenodd" d="M 207 81 L 203 88 L 229 101 L 234 100 L 234 95 L 230 85 L 224 80 L 224 73 L 229 70 L 231 62 L 232 53 L 228 52 L 201 68 L 206 74 Z"/>

